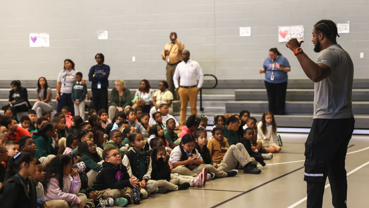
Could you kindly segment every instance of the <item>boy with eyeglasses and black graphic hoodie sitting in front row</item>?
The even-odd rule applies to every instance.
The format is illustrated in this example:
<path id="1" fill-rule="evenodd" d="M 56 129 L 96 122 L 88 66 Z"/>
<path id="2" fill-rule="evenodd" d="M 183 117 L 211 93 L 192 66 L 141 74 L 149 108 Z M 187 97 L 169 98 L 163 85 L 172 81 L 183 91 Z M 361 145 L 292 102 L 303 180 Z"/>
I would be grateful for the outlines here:
<path id="1" fill-rule="evenodd" d="M 115 147 L 105 147 L 103 159 L 103 168 L 97 174 L 92 186 L 96 190 L 100 205 L 110 207 L 114 204 L 124 207 L 132 204 L 132 187 L 139 187 L 138 179 L 130 177 Z"/>

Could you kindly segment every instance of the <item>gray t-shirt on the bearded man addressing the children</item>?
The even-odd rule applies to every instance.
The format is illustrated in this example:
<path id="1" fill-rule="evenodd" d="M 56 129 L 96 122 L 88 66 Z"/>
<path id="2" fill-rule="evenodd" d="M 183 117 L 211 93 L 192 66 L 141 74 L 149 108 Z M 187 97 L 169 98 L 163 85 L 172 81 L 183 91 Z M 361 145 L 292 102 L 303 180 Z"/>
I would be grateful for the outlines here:
<path id="1" fill-rule="evenodd" d="M 314 118 L 340 119 L 352 114 L 354 64 L 338 44 L 321 51 L 317 63 L 325 64 L 331 74 L 314 84 Z"/>

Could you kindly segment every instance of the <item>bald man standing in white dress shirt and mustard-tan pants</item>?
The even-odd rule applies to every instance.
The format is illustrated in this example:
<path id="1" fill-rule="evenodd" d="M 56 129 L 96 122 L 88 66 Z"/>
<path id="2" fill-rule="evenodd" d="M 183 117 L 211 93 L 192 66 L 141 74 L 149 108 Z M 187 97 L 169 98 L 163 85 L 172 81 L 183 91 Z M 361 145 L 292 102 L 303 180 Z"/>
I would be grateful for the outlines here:
<path id="1" fill-rule="evenodd" d="M 176 67 L 176 71 L 173 75 L 173 82 L 181 100 L 180 124 L 185 125 L 188 101 L 190 101 L 191 115 L 195 114 L 197 116 L 197 93 L 203 86 L 204 74 L 200 64 L 190 60 L 190 51 L 183 51 L 182 60 L 183 61 Z M 178 84 L 179 77 L 180 83 Z M 199 83 L 197 83 L 197 77 L 199 77 Z"/>

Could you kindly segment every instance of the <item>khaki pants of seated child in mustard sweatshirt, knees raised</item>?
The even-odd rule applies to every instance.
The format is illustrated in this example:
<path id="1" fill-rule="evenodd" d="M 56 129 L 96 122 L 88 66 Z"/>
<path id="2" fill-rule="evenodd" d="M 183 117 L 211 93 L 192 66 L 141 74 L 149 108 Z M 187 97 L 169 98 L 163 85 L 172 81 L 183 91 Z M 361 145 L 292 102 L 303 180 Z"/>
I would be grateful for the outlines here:
<path id="1" fill-rule="evenodd" d="M 219 169 L 230 171 L 237 168 L 236 166 L 238 163 L 244 167 L 249 162 L 253 162 L 255 164 L 255 158 L 250 157 L 244 145 L 242 143 L 237 143 L 236 145 L 232 144 L 221 161 L 221 163 L 225 163 L 227 166 L 221 166 Z"/>

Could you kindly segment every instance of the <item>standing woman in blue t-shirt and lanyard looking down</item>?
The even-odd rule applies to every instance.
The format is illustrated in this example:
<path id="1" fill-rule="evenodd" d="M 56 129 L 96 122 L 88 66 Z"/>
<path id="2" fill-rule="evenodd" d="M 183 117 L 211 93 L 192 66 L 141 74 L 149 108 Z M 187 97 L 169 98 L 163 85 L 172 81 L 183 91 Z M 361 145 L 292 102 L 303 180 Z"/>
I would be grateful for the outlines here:
<path id="1" fill-rule="evenodd" d="M 287 72 L 291 71 L 287 58 L 277 48 L 270 48 L 269 57 L 265 59 L 259 73 L 265 73 L 265 88 L 268 93 L 269 111 L 275 115 L 284 114 L 287 90 Z"/>

